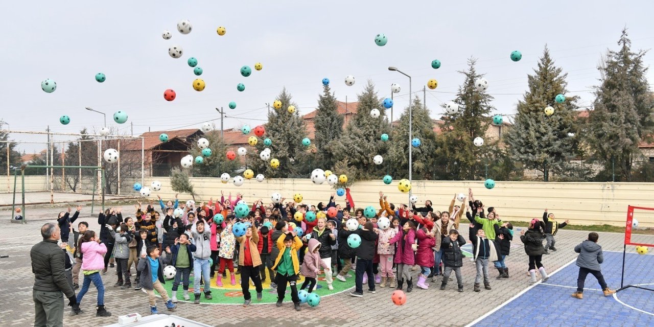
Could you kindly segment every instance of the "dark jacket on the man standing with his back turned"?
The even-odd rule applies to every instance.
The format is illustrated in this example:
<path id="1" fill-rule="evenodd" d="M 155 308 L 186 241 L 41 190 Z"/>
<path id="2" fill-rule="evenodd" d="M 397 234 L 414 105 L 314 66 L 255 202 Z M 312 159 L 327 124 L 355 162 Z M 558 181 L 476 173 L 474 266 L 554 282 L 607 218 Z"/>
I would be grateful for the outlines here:
<path id="1" fill-rule="evenodd" d="M 57 241 L 44 239 L 32 247 L 29 256 L 34 274 L 33 290 L 63 292 L 67 298 L 75 296 L 64 273 L 66 254 L 57 245 Z"/>

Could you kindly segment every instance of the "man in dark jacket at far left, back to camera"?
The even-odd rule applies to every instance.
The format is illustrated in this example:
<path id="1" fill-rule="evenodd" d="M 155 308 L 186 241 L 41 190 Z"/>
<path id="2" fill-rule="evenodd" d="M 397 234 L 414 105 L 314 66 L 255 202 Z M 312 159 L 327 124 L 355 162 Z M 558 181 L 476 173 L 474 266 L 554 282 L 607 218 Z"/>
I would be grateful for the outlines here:
<path id="1" fill-rule="evenodd" d="M 35 327 L 63 326 L 63 296 L 70 301 L 68 305 L 77 303 L 75 291 L 68 283 L 65 269 L 65 253 L 57 245 L 61 237 L 59 226 L 48 222 L 41 227 L 43 241 L 32 247 L 29 256 L 34 273 L 32 298 L 35 305 Z"/>

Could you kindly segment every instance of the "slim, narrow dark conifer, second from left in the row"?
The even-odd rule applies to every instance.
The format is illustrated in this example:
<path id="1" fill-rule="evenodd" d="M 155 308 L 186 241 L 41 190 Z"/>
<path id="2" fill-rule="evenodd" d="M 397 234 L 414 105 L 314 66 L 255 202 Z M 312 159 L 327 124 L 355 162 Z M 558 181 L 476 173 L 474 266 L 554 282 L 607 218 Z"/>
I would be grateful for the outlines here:
<path id="1" fill-rule="evenodd" d="M 337 112 L 338 105 L 334 94 L 330 93 L 329 85 L 324 86 L 322 95 L 318 98 L 318 109 L 313 124 L 316 129 L 315 146 L 317 162 L 324 167 L 334 166 L 334 158 L 329 152 L 328 145 L 331 141 L 343 134 L 343 115 Z"/>

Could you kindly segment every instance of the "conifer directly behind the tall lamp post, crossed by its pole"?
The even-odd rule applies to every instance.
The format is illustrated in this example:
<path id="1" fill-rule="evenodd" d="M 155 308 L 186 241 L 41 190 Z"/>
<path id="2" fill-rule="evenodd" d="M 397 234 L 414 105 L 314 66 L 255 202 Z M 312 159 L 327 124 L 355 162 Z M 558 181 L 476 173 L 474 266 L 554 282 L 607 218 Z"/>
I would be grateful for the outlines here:
<path id="1" fill-rule="evenodd" d="M 429 110 L 422 105 L 419 97 L 415 97 L 411 103 L 412 138 L 421 140 L 421 145 L 411 150 L 413 161 L 413 179 L 432 179 L 434 177 L 434 156 L 436 153 L 436 133 L 434 133 L 434 122 L 429 116 Z M 408 177 L 409 169 L 409 107 L 400 115 L 398 126 L 393 128 L 388 148 L 388 156 L 385 158 L 385 166 L 390 169 L 394 177 Z"/>

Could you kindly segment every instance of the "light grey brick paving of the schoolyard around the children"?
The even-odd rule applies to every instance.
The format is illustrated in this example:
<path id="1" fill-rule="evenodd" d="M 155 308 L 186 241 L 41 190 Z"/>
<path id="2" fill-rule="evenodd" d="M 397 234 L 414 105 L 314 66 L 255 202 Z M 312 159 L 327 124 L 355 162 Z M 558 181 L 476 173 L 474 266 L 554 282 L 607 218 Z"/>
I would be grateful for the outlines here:
<path id="1" fill-rule="evenodd" d="M 124 206 L 124 212 L 131 212 L 132 208 Z M 53 221 L 62 209 L 38 208 L 31 209 L 27 224 L 12 224 L 9 219 L 0 220 L 0 254 L 9 254 L 9 258 L 0 259 L 0 321 L 7 326 L 33 326 L 34 306 L 31 297 L 33 274 L 31 273 L 29 249 L 41 241 L 39 229 L 46 221 Z M 87 221 L 90 228 L 99 230 L 97 215 L 89 216 L 89 208 L 84 207 L 78 221 Z M 7 211 L 0 211 L 0 216 L 9 216 Z M 468 235 L 467 226 L 462 225 L 463 235 Z M 273 304 L 250 305 L 194 305 L 179 303 L 175 315 L 191 318 L 212 326 L 242 325 L 242 326 L 466 326 L 475 319 L 489 313 L 498 305 L 513 296 L 523 292 L 530 284 L 525 275 L 528 258 L 519 241 L 519 232 L 516 232 L 511 254 L 507 257 L 507 264 L 511 278 L 496 280 L 497 271 L 489 267 L 492 290 L 482 290 L 480 293 L 472 291 L 475 277 L 474 265 L 470 259 L 464 259 L 462 269 L 464 278 L 464 293 L 455 290 L 456 281 L 450 282 L 447 290 L 438 290 L 438 283 L 432 283 L 430 289 L 414 288 L 407 294 L 405 305 L 398 307 L 390 300 L 392 290 L 377 287 L 376 294 L 365 292 L 363 298 L 353 298 L 349 292 L 336 294 L 322 299 L 318 307 L 303 305 L 300 312 L 296 312 L 288 304 L 278 308 Z M 572 250 L 575 245 L 587 237 L 587 232 L 561 230 L 557 235 L 558 251 L 543 256 L 543 264 L 548 271 L 555 271 L 570 263 L 576 258 Z M 619 250 L 623 248 L 624 235 L 619 233 L 600 233 L 600 244 L 605 250 Z M 573 264 L 574 265 L 574 264 Z M 134 273 L 134 269 L 133 273 Z M 150 315 L 146 295 L 141 291 L 120 290 L 112 287 L 116 282 L 116 269 L 110 268 L 103 275 L 105 283 L 105 303 L 112 312 L 112 317 L 95 317 L 95 290 L 86 294 L 82 301 L 84 313 L 69 317 L 69 308 L 65 309 L 64 326 L 104 326 L 117 322 L 119 315 L 140 313 Z M 417 273 L 416 273 L 417 274 Z M 596 283 L 589 277 L 587 284 Z M 573 278 L 573 279 L 576 279 Z M 81 280 L 81 279 L 80 279 Z M 416 279 L 414 279 L 416 281 Z M 339 281 L 334 281 L 339 283 Z M 571 284 L 570 286 L 576 286 Z M 619 286 L 619 285 L 610 285 Z M 572 290 L 572 289 L 571 289 Z M 569 298 L 569 296 L 568 296 Z M 549 298 L 552 313 L 560 310 L 574 309 L 576 302 L 566 307 L 557 307 L 557 299 Z M 254 300 L 256 302 L 256 300 Z M 581 302 L 581 301 L 580 301 Z M 580 305 L 580 304 L 579 304 Z M 162 303 L 158 305 L 161 313 Z M 601 308 L 596 308 L 597 312 Z M 515 313 L 524 315 L 525 312 Z M 554 319 L 554 318 L 552 318 Z M 485 321 L 483 325 L 510 325 L 522 326 L 521 320 L 511 322 L 497 321 L 496 324 Z M 556 320 L 545 319 L 540 326 L 559 326 Z M 531 325 L 530 325 L 531 326 Z"/>

